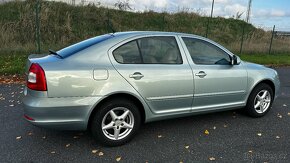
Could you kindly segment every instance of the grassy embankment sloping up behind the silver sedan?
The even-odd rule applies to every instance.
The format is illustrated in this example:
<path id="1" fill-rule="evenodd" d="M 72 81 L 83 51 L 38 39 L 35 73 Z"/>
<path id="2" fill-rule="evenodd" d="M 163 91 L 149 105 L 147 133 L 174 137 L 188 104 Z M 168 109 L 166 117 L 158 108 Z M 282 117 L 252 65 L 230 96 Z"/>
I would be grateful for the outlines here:
<path id="1" fill-rule="evenodd" d="M 35 4 L 35 0 L 0 4 L 1 49 L 36 44 Z M 112 32 L 108 28 L 108 20 L 115 31 L 173 31 L 201 36 L 205 35 L 208 22 L 207 17 L 197 13 L 128 12 L 93 5 L 72 6 L 48 1 L 41 1 L 39 15 L 42 52 L 47 51 L 46 47 L 59 49 L 86 38 Z M 259 31 L 262 35 L 266 34 L 242 20 L 217 17 L 211 20 L 208 37 L 235 50 L 230 44 L 239 42 L 242 26 L 245 26 L 248 38 L 254 37 Z"/>

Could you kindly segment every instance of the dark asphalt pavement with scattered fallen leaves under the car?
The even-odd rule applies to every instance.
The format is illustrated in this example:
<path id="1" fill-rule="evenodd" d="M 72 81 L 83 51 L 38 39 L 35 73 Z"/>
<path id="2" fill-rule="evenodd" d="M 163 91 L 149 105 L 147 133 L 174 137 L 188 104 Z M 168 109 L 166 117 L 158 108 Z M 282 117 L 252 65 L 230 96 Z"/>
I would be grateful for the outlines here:
<path id="1" fill-rule="evenodd" d="M 0 84 L 0 162 L 290 162 L 290 68 L 270 112 L 226 111 L 145 124 L 121 147 L 89 132 L 35 127 L 23 119 L 24 85 Z"/>

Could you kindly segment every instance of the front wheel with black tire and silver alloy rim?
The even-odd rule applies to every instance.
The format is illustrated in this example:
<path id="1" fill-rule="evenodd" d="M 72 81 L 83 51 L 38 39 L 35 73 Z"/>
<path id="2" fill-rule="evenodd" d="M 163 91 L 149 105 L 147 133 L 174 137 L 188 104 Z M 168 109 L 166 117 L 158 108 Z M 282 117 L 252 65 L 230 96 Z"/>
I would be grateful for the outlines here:
<path id="1" fill-rule="evenodd" d="M 262 117 L 271 109 L 273 103 L 273 90 L 265 83 L 257 85 L 251 92 L 245 108 L 251 117 Z"/>

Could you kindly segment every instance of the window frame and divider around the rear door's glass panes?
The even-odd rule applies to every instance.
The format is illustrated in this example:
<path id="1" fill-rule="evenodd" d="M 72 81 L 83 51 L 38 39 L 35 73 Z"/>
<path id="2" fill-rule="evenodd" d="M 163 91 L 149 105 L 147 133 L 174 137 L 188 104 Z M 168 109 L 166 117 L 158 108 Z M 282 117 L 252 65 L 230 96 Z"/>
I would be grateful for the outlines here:
<path id="1" fill-rule="evenodd" d="M 175 40 L 176 46 L 177 46 L 177 50 L 179 51 L 179 57 L 180 57 L 180 63 L 144 63 L 143 60 L 143 55 L 141 52 L 141 48 L 139 46 L 138 40 L 139 39 L 143 39 L 143 38 L 152 38 L 152 37 L 171 37 Z M 125 44 L 128 44 L 130 42 L 136 41 L 137 47 L 138 47 L 138 51 L 140 54 L 140 59 L 141 59 L 141 63 L 120 63 L 116 60 L 115 56 L 114 56 L 114 51 L 117 50 L 119 47 L 124 46 Z M 182 45 L 181 45 L 182 46 Z M 146 36 L 139 36 L 139 37 L 134 37 L 131 39 L 128 39 L 126 41 L 122 41 L 120 44 L 117 44 L 116 47 L 114 47 L 113 49 L 111 49 L 111 54 L 113 56 L 113 59 L 118 63 L 118 64 L 124 64 L 124 65 L 183 65 L 183 57 L 181 54 L 181 50 L 180 50 L 180 45 L 178 44 L 178 39 L 177 36 L 175 35 L 146 35 Z"/>

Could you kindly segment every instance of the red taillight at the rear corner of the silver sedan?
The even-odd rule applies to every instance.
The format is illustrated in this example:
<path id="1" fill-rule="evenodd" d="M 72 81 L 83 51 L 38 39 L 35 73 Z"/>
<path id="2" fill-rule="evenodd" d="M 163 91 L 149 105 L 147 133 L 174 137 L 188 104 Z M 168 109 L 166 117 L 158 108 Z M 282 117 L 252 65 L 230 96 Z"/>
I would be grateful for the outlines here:
<path id="1" fill-rule="evenodd" d="M 45 73 L 37 63 L 32 63 L 29 68 L 27 87 L 36 91 L 47 91 Z"/>

